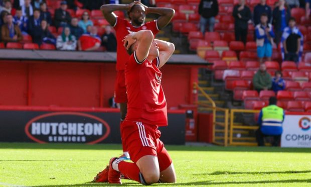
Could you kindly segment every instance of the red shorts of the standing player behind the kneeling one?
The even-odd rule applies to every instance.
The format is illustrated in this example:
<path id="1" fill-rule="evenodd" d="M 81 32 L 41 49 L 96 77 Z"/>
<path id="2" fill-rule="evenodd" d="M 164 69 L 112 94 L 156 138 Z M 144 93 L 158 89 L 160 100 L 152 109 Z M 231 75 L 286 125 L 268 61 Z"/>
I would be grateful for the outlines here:
<path id="1" fill-rule="evenodd" d="M 114 85 L 114 102 L 127 103 L 124 70 L 117 71 L 117 77 Z"/>

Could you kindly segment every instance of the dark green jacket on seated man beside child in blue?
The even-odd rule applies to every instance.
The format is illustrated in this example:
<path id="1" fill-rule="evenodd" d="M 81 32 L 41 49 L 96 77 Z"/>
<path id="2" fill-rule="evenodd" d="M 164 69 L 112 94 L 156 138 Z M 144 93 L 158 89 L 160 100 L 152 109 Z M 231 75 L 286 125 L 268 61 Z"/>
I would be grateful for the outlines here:
<path id="1" fill-rule="evenodd" d="M 263 87 L 270 89 L 272 87 L 271 75 L 267 71 L 261 73 L 258 70 L 253 77 L 253 85 L 255 89 L 263 89 Z"/>

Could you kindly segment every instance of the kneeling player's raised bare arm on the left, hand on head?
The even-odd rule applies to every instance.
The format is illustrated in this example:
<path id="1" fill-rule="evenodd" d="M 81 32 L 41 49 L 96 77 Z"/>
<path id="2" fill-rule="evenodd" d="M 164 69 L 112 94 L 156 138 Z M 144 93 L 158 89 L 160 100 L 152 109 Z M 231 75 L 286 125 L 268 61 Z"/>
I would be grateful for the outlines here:
<path id="1" fill-rule="evenodd" d="M 135 54 L 138 62 L 142 62 L 147 58 L 152 41 L 153 34 L 150 30 L 133 32 L 124 38 L 124 44 L 128 43 L 127 49 L 129 49 L 133 43 L 137 43 L 135 44 L 137 45 Z"/>

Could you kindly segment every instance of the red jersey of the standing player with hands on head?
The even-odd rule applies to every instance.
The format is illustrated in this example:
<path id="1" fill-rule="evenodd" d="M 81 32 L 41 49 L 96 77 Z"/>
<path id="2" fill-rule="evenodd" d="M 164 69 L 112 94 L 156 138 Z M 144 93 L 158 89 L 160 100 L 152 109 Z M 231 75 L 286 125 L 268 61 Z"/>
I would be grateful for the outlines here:
<path id="1" fill-rule="evenodd" d="M 159 32 L 157 20 L 142 24 L 140 27 L 134 27 L 127 20 L 117 17 L 113 27 L 116 32 L 116 40 L 117 40 L 117 64 L 116 64 L 117 70 L 124 70 L 125 63 L 128 61 L 129 58 L 129 55 L 126 52 L 122 42 L 124 37 L 129 34 L 128 31 L 137 32 L 140 30 L 150 30 L 154 36 Z"/>

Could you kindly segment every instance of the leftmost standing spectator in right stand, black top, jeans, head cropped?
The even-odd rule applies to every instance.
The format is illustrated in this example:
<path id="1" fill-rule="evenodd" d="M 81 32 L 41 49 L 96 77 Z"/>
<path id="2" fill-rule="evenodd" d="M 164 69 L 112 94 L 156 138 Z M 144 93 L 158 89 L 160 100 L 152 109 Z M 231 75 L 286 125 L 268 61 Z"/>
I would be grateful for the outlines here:
<path id="1" fill-rule="evenodd" d="M 200 27 L 203 35 L 206 31 L 206 25 L 209 26 L 209 32 L 214 31 L 215 17 L 218 15 L 217 0 L 201 0 L 199 4 L 199 14 L 201 15 Z"/>

